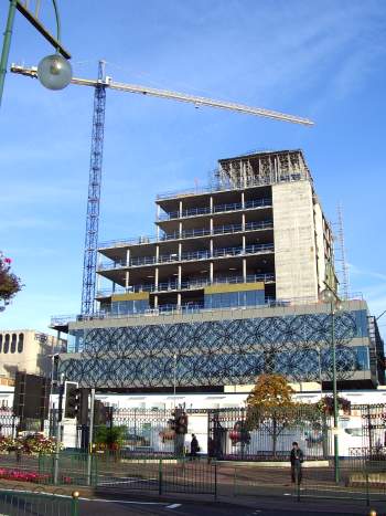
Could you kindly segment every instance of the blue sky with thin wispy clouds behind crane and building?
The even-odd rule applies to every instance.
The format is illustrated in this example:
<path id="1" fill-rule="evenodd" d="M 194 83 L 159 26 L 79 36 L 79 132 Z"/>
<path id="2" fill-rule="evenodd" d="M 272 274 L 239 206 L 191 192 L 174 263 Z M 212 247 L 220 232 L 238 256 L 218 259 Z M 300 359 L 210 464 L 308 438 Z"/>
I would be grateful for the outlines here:
<path id="1" fill-rule="evenodd" d="M 33 1 L 32 1 L 33 3 Z M 42 18 L 53 27 L 51 1 Z M 0 4 L 1 30 L 8 2 Z M 386 309 L 384 0 L 60 2 L 74 74 L 307 116 L 314 128 L 107 92 L 100 240 L 152 234 L 158 192 L 204 185 L 216 160 L 302 148 L 326 215 L 343 206 L 351 289 Z M 18 13 L 10 62 L 51 48 Z M 0 114 L 0 249 L 25 287 L 1 328 L 79 312 L 93 91 L 8 74 Z M 379 320 L 386 329 L 386 316 Z M 386 331 L 383 331 L 384 335 Z"/>

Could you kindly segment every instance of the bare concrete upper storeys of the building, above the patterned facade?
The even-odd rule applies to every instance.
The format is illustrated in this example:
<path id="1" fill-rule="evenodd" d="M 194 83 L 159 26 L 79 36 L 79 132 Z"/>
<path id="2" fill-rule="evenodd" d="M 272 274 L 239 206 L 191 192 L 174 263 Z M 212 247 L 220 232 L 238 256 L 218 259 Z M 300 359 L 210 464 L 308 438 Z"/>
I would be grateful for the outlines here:
<path id="1" fill-rule="evenodd" d="M 213 188 L 158 196 L 157 235 L 99 245 L 101 312 L 317 302 L 332 234 L 300 150 L 223 159 Z"/>

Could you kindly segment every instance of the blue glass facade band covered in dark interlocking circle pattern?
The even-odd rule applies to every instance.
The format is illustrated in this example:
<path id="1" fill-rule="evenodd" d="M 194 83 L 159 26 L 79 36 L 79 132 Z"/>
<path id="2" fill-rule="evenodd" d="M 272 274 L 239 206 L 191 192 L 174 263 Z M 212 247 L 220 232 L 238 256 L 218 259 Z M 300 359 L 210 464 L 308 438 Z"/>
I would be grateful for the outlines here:
<path id="1" fill-rule="evenodd" d="M 355 316 L 288 317 L 94 328 L 79 359 L 61 364 L 66 378 L 87 387 L 171 387 L 253 383 L 262 372 L 296 381 L 330 379 L 332 326 L 336 369 L 345 379 L 364 366 L 347 344 Z"/>

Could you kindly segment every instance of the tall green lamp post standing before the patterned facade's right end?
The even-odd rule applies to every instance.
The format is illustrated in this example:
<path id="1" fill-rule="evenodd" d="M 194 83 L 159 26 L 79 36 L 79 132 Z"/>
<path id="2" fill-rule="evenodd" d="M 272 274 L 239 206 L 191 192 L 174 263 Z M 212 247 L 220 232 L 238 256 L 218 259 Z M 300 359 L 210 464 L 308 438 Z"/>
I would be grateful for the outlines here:
<path id="1" fill-rule="evenodd" d="M 321 301 L 330 305 L 331 316 L 331 349 L 332 349 L 332 389 L 333 389 L 333 403 L 334 403 L 334 474 L 335 482 L 340 481 L 339 468 L 339 411 L 337 411 L 337 392 L 336 392 L 336 345 L 335 345 L 335 314 L 342 309 L 341 299 L 331 289 L 325 288 L 321 293 Z"/>

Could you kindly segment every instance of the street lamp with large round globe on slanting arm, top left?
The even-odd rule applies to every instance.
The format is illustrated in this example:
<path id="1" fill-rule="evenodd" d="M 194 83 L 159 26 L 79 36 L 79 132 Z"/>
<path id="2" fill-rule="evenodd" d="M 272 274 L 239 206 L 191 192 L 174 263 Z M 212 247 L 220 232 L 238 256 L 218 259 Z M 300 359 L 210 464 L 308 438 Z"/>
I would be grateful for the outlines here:
<path id="1" fill-rule="evenodd" d="M 8 57 L 11 48 L 13 22 L 17 10 L 23 14 L 24 18 L 26 18 L 26 20 L 43 35 L 43 38 L 45 38 L 52 44 L 56 51 L 55 54 L 47 55 L 39 63 L 37 77 L 43 86 L 47 87 L 49 89 L 62 89 L 71 82 L 72 69 L 67 61 L 71 59 L 71 54 L 63 48 L 61 43 L 61 20 L 56 0 L 52 0 L 52 3 L 56 19 L 56 38 L 54 38 L 51 32 L 39 21 L 37 3 L 36 12 L 33 14 L 28 9 L 28 2 L 23 4 L 20 0 L 10 0 L 0 60 L 0 105 L 2 99 L 2 92 L 4 88 Z"/>

